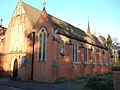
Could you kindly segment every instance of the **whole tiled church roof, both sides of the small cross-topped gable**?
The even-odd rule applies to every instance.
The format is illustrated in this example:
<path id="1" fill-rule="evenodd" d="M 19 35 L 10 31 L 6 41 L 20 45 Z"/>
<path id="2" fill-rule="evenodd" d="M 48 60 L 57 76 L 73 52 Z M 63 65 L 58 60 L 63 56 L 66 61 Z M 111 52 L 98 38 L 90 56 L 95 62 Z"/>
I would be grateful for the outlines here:
<path id="1" fill-rule="evenodd" d="M 28 4 L 25 4 L 25 3 L 23 3 L 23 7 L 24 7 L 24 10 L 28 16 L 28 19 L 29 19 L 32 27 L 34 27 L 41 15 L 41 11 L 28 5 Z M 50 14 L 48 14 L 47 16 L 48 16 L 48 20 L 52 24 L 53 28 L 59 30 L 58 33 L 65 35 L 69 38 L 79 40 L 81 42 L 85 42 L 88 44 L 98 46 L 100 48 L 107 49 L 107 47 L 103 44 L 103 41 L 98 39 L 97 37 L 95 37 L 89 33 L 86 33 L 83 30 L 81 30 L 77 27 L 74 27 L 73 25 L 71 25 L 65 21 L 62 21 Z"/>

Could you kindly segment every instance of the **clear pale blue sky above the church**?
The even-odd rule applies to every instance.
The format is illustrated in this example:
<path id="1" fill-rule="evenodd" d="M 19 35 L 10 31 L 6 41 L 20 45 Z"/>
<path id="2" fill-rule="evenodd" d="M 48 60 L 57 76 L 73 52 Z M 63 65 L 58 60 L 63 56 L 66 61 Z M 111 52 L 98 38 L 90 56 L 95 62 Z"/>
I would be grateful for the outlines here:
<path id="1" fill-rule="evenodd" d="M 1 0 L 0 18 L 7 25 L 19 0 Z M 22 0 L 40 10 L 44 0 Z M 46 11 L 82 30 L 87 31 L 88 16 L 91 32 L 120 41 L 120 0 L 45 0 Z"/>

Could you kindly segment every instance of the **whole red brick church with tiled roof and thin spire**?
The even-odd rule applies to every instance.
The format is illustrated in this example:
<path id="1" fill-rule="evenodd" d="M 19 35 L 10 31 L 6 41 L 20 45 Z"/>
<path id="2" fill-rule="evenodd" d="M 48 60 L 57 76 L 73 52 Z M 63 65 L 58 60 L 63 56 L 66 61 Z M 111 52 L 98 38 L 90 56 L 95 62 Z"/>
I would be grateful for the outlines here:
<path id="1" fill-rule="evenodd" d="M 110 54 L 96 37 L 18 2 L 5 35 L 1 66 L 11 77 L 54 82 L 60 77 L 110 72 Z"/>

